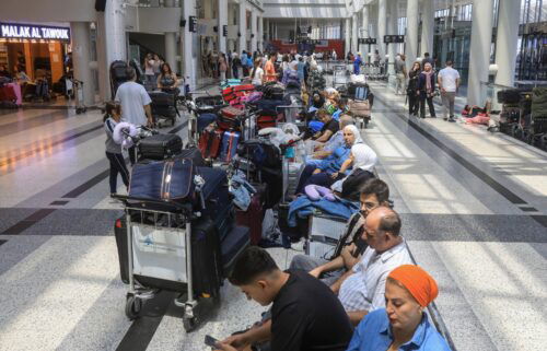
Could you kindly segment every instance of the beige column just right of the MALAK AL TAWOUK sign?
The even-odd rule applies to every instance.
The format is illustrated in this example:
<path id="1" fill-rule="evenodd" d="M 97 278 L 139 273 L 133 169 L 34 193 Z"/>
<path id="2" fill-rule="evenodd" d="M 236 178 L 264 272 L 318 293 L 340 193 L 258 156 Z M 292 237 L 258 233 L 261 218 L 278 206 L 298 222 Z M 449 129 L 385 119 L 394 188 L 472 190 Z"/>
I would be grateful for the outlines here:
<path id="1" fill-rule="evenodd" d="M 83 82 L 83 103 L 86 106 L 95 104 L 95 86 L 90 68 L 90 23 L 71 22 L 70 34 L 72 37 L 72 62 L 74 78 Z"/>

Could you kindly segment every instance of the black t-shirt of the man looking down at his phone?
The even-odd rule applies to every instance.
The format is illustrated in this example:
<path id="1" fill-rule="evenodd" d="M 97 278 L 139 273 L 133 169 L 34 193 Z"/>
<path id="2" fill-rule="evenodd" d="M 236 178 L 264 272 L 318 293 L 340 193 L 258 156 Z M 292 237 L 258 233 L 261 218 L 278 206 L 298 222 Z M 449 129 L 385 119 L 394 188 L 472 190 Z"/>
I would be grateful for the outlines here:
<path id="1" fill-rule="evenodd" d="M 305 271 L 287 272 L 271 307 L 271 350 L 346 350 L 352 329 L 336 295 Z"/>

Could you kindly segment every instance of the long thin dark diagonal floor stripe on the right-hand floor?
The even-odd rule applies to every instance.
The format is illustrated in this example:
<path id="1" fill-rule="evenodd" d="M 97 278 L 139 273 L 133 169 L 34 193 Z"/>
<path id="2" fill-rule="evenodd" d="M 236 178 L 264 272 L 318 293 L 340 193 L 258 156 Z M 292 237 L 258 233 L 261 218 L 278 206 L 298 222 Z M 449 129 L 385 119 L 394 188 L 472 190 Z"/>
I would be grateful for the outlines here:
<path id="1" fill-rule="evenodd" d="M 382 103 L 384 103 L 384 100 L 382 97 L 377 97 Z M 385 105 L 385 103 L 384 103 Z M 461 156 L 457 152 L 454 150 L 450 149 L 446 147 L 442 141 L 433 137 L 429 131 L 424 130 L 422 127 L 420 127 L 418 124 L 416 124 L 414 120 L 408 119 L 404 117 L 401 114 L 394 112 L 394 115 L 400 118 L 404 121 L 407 121 L 410 127 L 412 127 L 416 131 L 418 131 L 420 134 L 422 134 L 426 139 L 431 141 L 434 145 L 437 145 L 439 149 L 444 151 L 449 156 L 454 159 L 457 163 L 459 163 L 462 166 L 467 168 L 470 173 L 473 173 L 475 176 L 477 176 L 479 179 L 488 184 L 492 189 L 494 189 L 498 194 L 500 194 L 502 197 L 508 199 L 511 203 L 514 204 L 525 204 L 527 203 L 524 201 L 521 197 L 519 197 L 513 191 L 509 190 L 505 188 L 503 185 L 498 183 L 496 179 L 490 177 L 488 174 L 485 172 L 480 171 L 477 166 L 472 164 L 469 161 L 465 160 L 463 156 Z"/>

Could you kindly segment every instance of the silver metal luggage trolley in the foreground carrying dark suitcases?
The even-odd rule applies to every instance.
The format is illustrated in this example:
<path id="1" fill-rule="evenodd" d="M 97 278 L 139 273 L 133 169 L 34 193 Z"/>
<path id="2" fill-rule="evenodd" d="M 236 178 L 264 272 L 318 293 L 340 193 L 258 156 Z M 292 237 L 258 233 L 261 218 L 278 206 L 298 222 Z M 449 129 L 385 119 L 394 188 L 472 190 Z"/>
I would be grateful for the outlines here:
<path id="1" fill-rule="evenodd" d="M 174 291 L 181 293 L 174 302 L 184 308 L 184 328 L 187 332 L 194 330 L 201 320 L 202 305 L 220 302 L 219 292 L 209 299 L 194 296 L 191 223 L 199 212 L 194 212 L 190 203 L 116 198 L 125 204 L 127 221 L 127 317 L 137 318 L 143 301 L 161 290 Z"/>

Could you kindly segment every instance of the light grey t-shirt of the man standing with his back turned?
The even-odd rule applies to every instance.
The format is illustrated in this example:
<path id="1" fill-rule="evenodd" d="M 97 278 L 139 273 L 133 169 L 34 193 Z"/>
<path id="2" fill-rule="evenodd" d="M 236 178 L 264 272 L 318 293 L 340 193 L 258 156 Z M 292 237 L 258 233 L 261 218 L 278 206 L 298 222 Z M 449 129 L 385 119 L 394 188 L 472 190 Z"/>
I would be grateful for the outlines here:
<path id="1" fill-rule="evenodd" d="M 136 82 L 125 82 L 119 85 L 116 92 L 116 101 L 121 104 L 121 120 L 133 125 L 146 125 L 147 114 L 144 106 L 149 105 L 152 100 L 148 95 L 144 86 Z"/>

